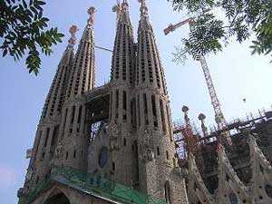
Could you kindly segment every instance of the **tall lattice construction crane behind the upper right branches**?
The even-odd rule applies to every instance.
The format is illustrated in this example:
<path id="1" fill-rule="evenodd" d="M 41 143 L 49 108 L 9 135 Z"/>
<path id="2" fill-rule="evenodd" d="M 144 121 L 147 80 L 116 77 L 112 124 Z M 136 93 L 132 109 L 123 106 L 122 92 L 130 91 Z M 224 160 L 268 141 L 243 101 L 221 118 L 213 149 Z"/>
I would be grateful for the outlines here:
<path id="1" fill-rule="evenodd" d="M 204 11 L 204 13 L 208 11 L 209 10 L 206 10 Z M 189 17 L 188 19 L 181 21 L 178 24 L 170 24 L 166 29 L 164 29 L 164 34 L 165 35 L 170 34 L 171 32 L 174 32 L 176 29 L 180 28 L 184 24 L 189 24 L 189 27 L 191 28 L 191 24 L 194 22 L 194 19 L 195 17 Z M 214 88 L 214 85 L 212 83 L 211 75 L 209 73 L 209 67 L 208 67 L 208 64 L 206 63 L 206 59 L 203 54 L 199 53 L 198 61 L 201 63 L 201 68 L 203 70 L 206 83 L 208 85 L 211 104 L 215 112 L 215 121 L 218 124 L 219 131 L 222 131 L 222 134 L 228 141 L 228 144 L 231 145 L 227 121 L 223 115 L 223 112 L 221 111 L 219 99 L 218 99 L 216 90 Z"/>

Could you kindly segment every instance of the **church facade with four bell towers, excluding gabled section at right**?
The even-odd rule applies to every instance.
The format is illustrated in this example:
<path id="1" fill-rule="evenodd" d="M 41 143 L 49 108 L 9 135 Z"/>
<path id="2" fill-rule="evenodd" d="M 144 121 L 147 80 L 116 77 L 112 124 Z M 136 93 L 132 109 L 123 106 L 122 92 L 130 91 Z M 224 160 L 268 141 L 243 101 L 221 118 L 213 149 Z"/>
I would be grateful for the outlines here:
<path id="1" fill-rule="evenodd" d="M 18 193 L 21 202 L 188 202 L 145 1 L 140 10 L 136 42 L 128 2 L 116 6 L 111 81 L 102 87 L 94 85 L 95 9 L 88 11 L 76 53 L 76 28 L 71 28 L 72 38 L 44 104 L 24 188 Z M 41 183 L 46 188 L 33 195 Z M 106 185 L 105 192 L 95 185 Z"/>

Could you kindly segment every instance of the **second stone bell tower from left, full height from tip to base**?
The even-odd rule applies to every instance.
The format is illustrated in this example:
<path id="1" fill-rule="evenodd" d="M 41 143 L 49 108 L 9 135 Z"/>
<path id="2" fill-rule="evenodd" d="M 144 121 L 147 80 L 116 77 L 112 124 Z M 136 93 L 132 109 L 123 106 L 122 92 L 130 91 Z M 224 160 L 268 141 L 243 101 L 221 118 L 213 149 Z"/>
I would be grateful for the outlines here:
<path id="1" fill-rule="evenodd" d="M 75 54 L 63 104 L 61 134 L 56 152 L 56 165 L 87 170 L 88 127 L 85 123 L 86 106 L 84 92 L 92 91 L 95 83 L 94 66 L 94 13 L 90 15 Z"/>

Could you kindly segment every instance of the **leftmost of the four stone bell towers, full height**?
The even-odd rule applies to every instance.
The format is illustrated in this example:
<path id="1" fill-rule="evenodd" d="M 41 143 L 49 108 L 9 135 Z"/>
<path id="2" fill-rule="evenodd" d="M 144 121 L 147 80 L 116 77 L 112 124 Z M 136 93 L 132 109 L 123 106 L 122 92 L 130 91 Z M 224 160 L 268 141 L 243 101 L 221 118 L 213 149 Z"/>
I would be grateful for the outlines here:
<path id="1" fill-rule="evenodd" d="M 43 179 L 50 171 L 53 152 L 58 138 L 59 121 L 63 110 L 67 78 L 73 64 L 73 45 L 76 41 L 76 31 L 77 27 L 72 25 L 69 29 L 71 37 L 58 64 L 53 83 L 44 103 L 44 110 L 36 131 L 32 156 L 27 170 L 29 177 L 26 178 L 24 183 L 24 186 L 28 188 L 33 188 L 39 179 Z"/>

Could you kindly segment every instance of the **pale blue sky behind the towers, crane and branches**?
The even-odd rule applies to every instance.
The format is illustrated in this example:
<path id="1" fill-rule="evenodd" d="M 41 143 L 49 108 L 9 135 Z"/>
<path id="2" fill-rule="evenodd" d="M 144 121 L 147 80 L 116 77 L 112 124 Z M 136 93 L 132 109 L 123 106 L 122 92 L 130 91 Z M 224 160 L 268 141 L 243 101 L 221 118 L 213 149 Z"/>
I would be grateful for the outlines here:
<path id="1" fill-rule="evenodd" d="M 76 24 L 80 28 L 77 34 L 79 39 L 88 18 L 86 10 L 94 5 L 98 10 L 95 17 L 96 44 L 112 49 L 115 34 L 114 3 L 114 0 L 48 1 L 45 15 L 51 19 L 53 26 L 58 26 L 66 35 L 63 43 L 54 47 L 52 56 L 42 57 L 42 70 L 37 77 L 27 73 L 23 61 L 15 63 L 12 58 L 0 58 L 0 204 L 17 202 L 16 190 L 23 185 L 28 164 L 28 160 L 24 159 L 25 151 L 34 142 L 44 99 L 69 38 L 69 26 Z M 181 107 L 187 104 L 192 121 L 199 124 L 197 116 L 203 112 L 207 116 L 207 123 L 214 124 L 209 93 L 199 63 L 190 59 L 184 65 L 171 62 L 174 46 L 180 43 L 180 36 L 188 34 L 188 28 L 182 27 L 168 36 L 162 32 L 168 24 L 179 22 L 186 15 L 172 12 L 166 0 L 149 0 L 147 4 L 165 68 L 173 118 L 182 117 Z M 131 0 L 131 21 L 136 34 L 139 21 L 137 0 Z M 210 73 L 228 121 L 244 118 L 248 112 L 271 108 L 272 64 L 268 57 L 250 55 L 249 44 L 234 42 L 224 52 L 207 56 Z M 97 50 L 97 85 L 108 81 L 110 64 L 111 53 Z M 246 103 L 243 98 L 247 99 Z"/>

